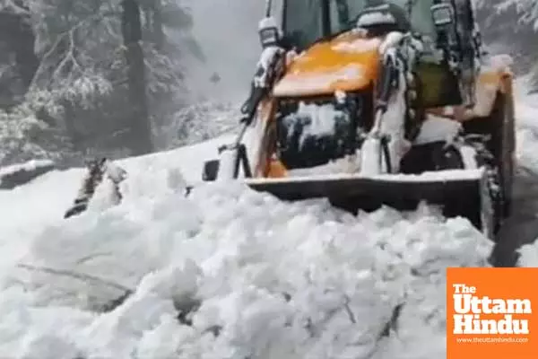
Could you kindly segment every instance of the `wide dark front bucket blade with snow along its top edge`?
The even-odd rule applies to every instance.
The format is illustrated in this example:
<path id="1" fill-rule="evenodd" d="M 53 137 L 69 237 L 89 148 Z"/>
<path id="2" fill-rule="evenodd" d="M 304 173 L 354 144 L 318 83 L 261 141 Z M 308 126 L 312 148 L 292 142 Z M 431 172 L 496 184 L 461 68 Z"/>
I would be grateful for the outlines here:
<path id="1" fill-rule="evenodd" d="M 443 207 L 447 217 L 466 217 L 489 237 L 492 210 L 484 171 L 443 171 L 422 175 L 382 175 L 375 178 L 319 176 L 313 178 L 248 179 L 247 185 L 282 200 L 328 198 L 339 208 L 356 213 L 390 206 L 414 210 L 421 202 Z"/>

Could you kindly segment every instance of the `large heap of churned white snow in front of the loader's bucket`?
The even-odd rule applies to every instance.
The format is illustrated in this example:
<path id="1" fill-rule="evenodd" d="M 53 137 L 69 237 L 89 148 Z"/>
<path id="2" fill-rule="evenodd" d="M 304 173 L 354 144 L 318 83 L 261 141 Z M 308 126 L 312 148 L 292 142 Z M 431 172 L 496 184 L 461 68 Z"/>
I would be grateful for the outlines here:
<path id="1" fill-rule="evenodd" d="M 141 193 L 30 241 L 0 277 L 0 357 L 444 357 L 445 269 L 488 266 L 491 247 L 426 207 Z"/>

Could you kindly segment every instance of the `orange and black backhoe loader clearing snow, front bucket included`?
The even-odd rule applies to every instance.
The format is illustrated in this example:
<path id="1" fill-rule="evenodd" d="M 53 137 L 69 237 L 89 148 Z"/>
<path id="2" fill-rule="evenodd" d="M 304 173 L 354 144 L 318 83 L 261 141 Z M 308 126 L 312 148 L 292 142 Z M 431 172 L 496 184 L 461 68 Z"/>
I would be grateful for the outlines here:
<path id="1" fill-rule="evenodd" d="M 237 141 L 204 180 L 351 211 L 464 216 L 491 239 L 510 213 L 508 56 L 482 48 L 471 0 L 280 0 Z"/>

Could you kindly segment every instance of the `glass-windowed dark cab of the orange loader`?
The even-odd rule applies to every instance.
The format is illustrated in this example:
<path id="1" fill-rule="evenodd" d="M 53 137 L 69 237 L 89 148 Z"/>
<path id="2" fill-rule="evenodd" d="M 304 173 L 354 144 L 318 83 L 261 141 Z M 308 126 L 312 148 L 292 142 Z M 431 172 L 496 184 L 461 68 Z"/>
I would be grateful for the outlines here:
<path id="1" fill-rule="evenodd" d="M 422 43 L 423 105 L 473 105 L 482 50 L 470 0 L 278 0 L 273 9 L 283 45 L 299 53 L 360 27 L 411 32 Z"/>

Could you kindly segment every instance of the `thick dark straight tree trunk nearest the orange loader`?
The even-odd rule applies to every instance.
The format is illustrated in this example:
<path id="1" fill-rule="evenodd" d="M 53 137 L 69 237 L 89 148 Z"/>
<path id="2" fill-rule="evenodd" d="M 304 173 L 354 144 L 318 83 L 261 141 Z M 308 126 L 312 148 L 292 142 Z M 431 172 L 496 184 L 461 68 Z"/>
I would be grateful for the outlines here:
<path id="1" fill-rule="evenodd" d="M 152 127 L 146 96 L 145 65 L 140 7 L 135 0 L 123 0 L 122 33 L 126 47 L 127 77 L 131 101 L 130 149 L 134 155 L 151 153 Z"/>

